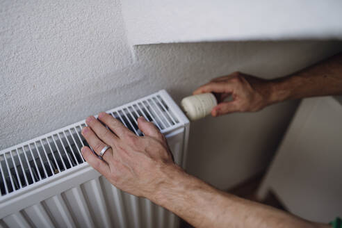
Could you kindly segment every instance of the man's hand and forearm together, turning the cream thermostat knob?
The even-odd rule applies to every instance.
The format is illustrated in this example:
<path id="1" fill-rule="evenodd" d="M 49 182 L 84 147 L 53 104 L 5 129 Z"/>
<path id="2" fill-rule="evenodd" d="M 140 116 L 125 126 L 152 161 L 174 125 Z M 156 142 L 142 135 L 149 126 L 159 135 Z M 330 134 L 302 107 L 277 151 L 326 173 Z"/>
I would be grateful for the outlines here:
<path id="1" fill-rule="evenodd" d="M 265 80 L 234 72 L 197 88 L 194 95 L 213 92 L 218 105 L 211 115 L 254 112 L 288 99 L 342 94 L 342 54 L 290 76 Z M 225 101 L 231 96 L 231 101 Z"/>

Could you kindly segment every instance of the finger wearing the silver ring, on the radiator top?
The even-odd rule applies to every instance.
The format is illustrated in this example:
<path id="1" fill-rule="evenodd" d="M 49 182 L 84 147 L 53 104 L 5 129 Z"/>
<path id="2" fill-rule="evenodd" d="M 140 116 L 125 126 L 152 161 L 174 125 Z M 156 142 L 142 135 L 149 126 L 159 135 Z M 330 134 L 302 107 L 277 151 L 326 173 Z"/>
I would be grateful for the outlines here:
<path id="1" fill-rule="evenodd" d="M 90 147 L 92 147 L 92 149 L 94 149 L 97 155 L 99 155 L 101 150 L 104 149 L 104 147 L 106 147 L 106 144 L 97 137 L 97 135 L 94 133 L 94 131 L 92 131 L 92 129 L 90 129 L 90 127 L 84 127 L 82 129 L 82 136 L 86 138 L 88 144 L 90 145 Z M 107 159 L 112 154 L 113 154 L 113 149 L 112 148 L 107 149 L 103 155 L 104 160 L 107 161 Z"/>

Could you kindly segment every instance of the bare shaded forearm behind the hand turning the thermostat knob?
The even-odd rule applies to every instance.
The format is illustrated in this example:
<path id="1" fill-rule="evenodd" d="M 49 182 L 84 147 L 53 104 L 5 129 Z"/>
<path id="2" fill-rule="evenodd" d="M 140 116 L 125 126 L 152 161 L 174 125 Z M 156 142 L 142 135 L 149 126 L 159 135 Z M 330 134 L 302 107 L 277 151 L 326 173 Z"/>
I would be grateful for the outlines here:
<path id="1" fill-rule="evenodd" d="M 270 104 L 286 99 L 325 95 L 342 95 L 342 54 L 332 56 L 316 65 L 268 82 Z"/>

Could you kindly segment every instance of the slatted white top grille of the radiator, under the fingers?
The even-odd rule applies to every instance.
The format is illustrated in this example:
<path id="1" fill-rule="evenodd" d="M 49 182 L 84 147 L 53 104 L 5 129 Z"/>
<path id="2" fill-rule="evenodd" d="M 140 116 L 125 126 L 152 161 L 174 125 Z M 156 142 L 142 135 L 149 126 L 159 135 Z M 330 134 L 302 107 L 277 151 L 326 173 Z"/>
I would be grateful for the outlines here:
<path id="1" fill-rule="evenodd" d="M 164 93 L 165 91 L 162 90 L 113 108 L 107 113 L 120 120 L 138 136 L 142 136 L 142 132 L 138 129 L 136 120 L 141 115 L 154 122 L 161 132 L 170 131 L 179 127 L 181 123 L 176 115 L 177 111 L 172 111 L 172 107 L 168 106 L 168 102 L 163 98 Z M 66 170 L 85 163 L 81 155 L 81 147 L 88 145 L 81 135 L 81 129 L 85 126 L 86 122 L 83 120 L 2 150 L 0 152 L 1 197 L 40 184 L 44 179 L 54 178 Z"/>

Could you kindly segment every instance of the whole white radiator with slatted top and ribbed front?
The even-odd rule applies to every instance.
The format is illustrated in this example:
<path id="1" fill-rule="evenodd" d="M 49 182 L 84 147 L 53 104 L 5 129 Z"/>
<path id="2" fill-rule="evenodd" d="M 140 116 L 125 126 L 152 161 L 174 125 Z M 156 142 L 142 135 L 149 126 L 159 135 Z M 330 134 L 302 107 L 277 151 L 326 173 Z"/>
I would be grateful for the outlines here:
<path id="1" fill-rule="evenodd" d="M 184 166 L 189 121 L 165 90 L 111 113 L 141 135 L 144 115 L 165 134 Z M 112 186 L 83 160 L 85 121 L 0 152 L 0 227 L 178 227 L 179 218 Z"/>

